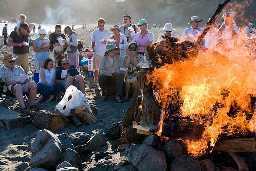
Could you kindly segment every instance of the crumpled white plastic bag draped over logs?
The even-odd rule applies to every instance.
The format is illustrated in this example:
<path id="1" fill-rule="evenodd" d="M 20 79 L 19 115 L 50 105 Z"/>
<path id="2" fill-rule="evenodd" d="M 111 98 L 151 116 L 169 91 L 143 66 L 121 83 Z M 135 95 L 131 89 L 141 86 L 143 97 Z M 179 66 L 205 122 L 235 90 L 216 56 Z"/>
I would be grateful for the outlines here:
<path id="1" fill-rule="evenodd" d="M 68 101 L 70 94 L 72 95 L 72 98 Z M 66 105 L 66 108 L 63 110 L 65 105 Z M 90 108 L 90 105 L 85 95 L 80 90 L 78 90 L 75 86 L 71 85 L 67 88 L 62 100 L 59 102 L 59 104 L 56 105 L 55 110 L 58 109 L 64 116 L 70 116 L 70 110 L 76 109 L 81 105 L 86 105 L 86 107 L 92 113 L 92 110 Z"/>

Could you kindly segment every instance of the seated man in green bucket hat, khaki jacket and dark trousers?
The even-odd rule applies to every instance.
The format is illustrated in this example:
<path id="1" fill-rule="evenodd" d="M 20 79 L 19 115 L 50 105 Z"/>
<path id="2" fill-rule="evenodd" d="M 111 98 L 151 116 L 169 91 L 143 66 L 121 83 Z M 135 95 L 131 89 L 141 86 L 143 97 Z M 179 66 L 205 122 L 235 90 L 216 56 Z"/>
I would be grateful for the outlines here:
<path id="1" fill-rule="evenodd" d="M 99 64 L 99 71 L 101 75 L 98 77 L 99 86 L 101 87 L 102 97 L 100 100 L 106 100 L 106 84 L 116 83 L 116 102 L 122 103 L 122 88 L 124 84 L 124 75 L 126 71 L 121 71 L 120 68 L 124 68 L 124 60 L 122 57 L 116 54 L 116 50 L 119 48 L 115 47 L 113 44 L 108 44 L 106 46 L 105 55 L 101 58 Z"/>

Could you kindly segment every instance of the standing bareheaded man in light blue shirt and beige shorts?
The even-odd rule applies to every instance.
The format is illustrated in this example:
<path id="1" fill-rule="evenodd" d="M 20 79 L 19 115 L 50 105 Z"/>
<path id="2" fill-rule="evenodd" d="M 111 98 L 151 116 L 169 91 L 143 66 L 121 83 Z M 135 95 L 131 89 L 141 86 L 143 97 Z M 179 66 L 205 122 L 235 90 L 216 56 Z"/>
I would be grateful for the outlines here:
<path id="1" fill-rule="evenodd" d="M 111 35 L 110 31 L 104 28 L 105 20 L 103 18 L 98 19 L 98 29 L 92 32 L 92 50 L 93 50 L 93 69 L 94 69 L 94 84 L 92 88 L 97 87 L 97 80 L 99 76 L 99 63 L 106 51 L 106 42 L 108 36 Z"/>

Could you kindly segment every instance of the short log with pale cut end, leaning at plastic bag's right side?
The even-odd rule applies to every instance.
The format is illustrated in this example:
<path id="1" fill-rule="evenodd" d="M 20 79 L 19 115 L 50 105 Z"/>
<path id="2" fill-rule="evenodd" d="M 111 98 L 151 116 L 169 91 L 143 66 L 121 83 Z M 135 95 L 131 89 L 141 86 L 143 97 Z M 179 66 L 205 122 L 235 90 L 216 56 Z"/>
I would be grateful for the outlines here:
<path id="1" fill-rule="evenodd" d="M 91 125 L 97 123 L 97 118 L 93 115 L 86 105 L 81 105 L 75 110 L 76 116 L 85 124 Z"/>

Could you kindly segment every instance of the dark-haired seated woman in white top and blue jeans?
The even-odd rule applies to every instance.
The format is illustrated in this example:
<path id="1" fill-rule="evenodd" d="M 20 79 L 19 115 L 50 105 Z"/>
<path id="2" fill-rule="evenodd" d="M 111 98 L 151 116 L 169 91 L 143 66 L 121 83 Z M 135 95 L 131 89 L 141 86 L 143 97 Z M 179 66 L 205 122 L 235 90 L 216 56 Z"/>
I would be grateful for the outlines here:
<path id="1" fill-rule="evenodd" d="M 37 93 L 41 93 L 35 103 L 47 99 L 45 102 L 50 102 L 62 89 L 62 84 L 55 84 L 56 73 L 53 69 L 53 61 L 51 58 L 45 60 L 43 68 L 39 71 L 39 81 L 37 83 Z"/>

